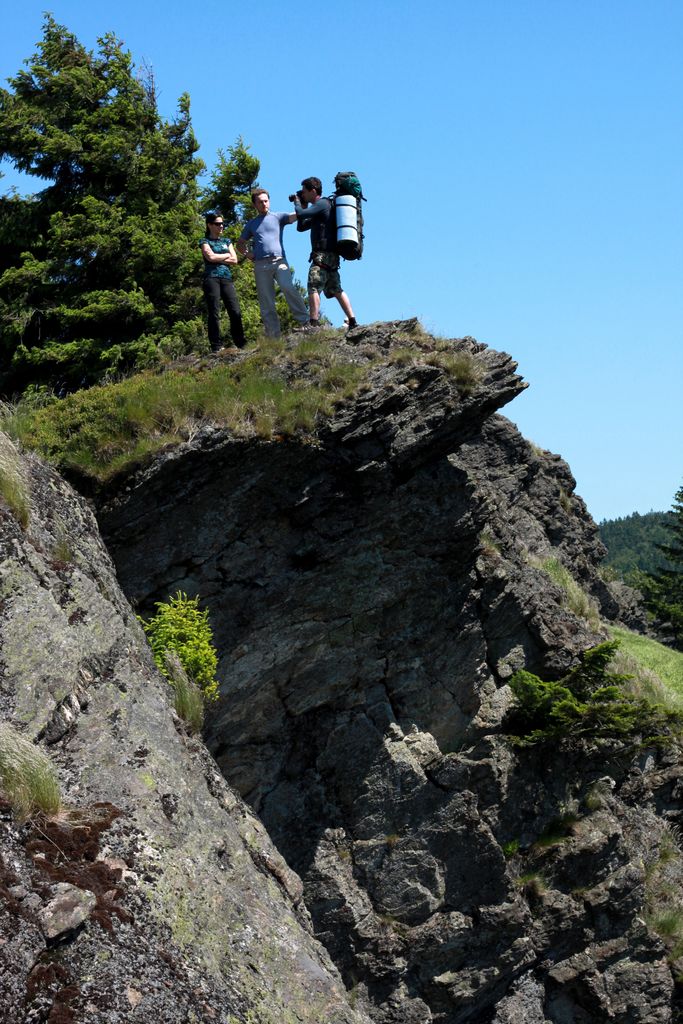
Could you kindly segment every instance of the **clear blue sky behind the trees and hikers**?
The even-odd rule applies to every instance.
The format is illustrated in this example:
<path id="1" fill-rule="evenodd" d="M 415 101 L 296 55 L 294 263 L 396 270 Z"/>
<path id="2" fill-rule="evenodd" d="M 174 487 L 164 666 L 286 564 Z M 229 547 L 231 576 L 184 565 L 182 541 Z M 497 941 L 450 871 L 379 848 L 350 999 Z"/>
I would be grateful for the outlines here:
<path id="1" fill-rule="evenodd" d="M 510 352 L 529 388 L 505 415 L 566 459 L 596 520 L 671 506 L 681 0 L 348 0 L 307 20 L 272 0 L 3 0 L 0 79 L 46 7 L 86 46 L 112 31 L 145 60 L 165 116 L 188 92 L 209 167 L 242 135 L 273 208 L 306 175 L 357 171 L 366 253 L 342 280 L 358 319 L 418 315 Z M 305 237 L 287 238 L 303 278 Z"/>

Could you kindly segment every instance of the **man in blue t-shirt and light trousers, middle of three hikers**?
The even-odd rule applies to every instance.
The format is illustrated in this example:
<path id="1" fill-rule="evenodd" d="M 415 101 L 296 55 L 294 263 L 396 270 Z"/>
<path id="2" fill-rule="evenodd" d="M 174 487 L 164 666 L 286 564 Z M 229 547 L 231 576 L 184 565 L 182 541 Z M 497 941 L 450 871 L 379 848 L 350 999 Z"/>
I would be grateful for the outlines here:
<path id="1" fill-rule="evenodd" d="M 258 216 L 245 224 L 238 249 L 254 263 L 256 294 L 265 333 L 270 338 L 279 338 L 281 327 L 275 309 L 275 282 L 294 318 L 301 325 L 308 324 L 306 304 L 294 284 L 283 248 L 283 231 L 287 224 L 296 220 L 296 214 L 271 213 L 270 197 L 265 188 L 254 188 L 252 203 Z M 248 247 L 250 241 L 251 251 Z"/>

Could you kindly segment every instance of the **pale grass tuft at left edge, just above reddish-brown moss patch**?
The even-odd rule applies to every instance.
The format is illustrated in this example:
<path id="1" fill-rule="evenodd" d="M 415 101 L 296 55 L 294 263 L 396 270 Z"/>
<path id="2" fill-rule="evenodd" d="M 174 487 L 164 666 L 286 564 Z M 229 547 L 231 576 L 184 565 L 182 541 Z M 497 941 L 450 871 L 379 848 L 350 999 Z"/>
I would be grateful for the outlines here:
<path id="1" fill-rule="evenodd" d="M 48 756 L 8 724 L 0 725 L 0 786 L 17 818 L 57 814 L 61 795 Z"/>

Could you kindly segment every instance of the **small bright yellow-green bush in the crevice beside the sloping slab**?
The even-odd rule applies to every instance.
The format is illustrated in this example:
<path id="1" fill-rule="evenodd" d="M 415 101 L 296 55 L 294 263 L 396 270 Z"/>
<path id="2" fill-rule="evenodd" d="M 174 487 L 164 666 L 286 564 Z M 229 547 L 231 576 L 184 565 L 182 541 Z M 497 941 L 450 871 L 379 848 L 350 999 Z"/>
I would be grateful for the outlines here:
<path id="1" fill-rule="evenodd" d="M 142 622 L 155 662 L 172 682 L 167 652 L 175 651 L 190 680 L 202 691 L 205 700 L 218 699 L 216 668 L 218 657 L 213 645 L 209 612 L 201 611 L 199 597 L 187 597 L 178 591 L 169 601 L 158 601 L 157 614 Z"/>

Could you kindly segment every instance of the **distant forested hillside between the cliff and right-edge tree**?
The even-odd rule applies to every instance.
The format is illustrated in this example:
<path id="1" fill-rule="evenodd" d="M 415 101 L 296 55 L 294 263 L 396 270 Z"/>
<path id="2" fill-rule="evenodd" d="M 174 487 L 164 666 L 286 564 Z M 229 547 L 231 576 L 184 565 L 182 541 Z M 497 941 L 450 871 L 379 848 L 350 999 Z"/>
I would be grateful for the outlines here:
<path id="1" fill-rule="evenodd" d="M 667 559 L 657 548 L 667 544 L 671 512 L 646 512 L 618 519 L 604 519 L 599 523 L 600 538 L 607 548 L 604 564 L 610 566 L 625 580 L 634 573 L 656 572 L 667 567 Z"/>

